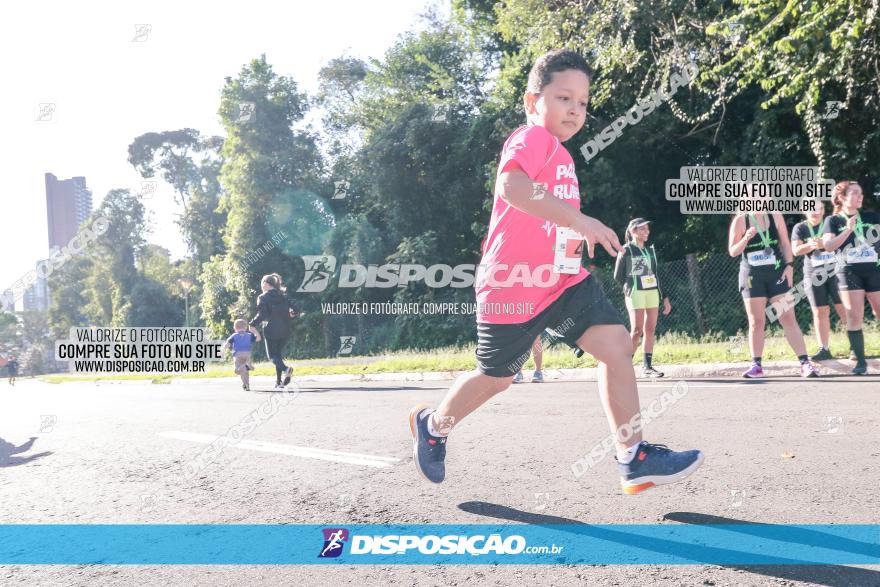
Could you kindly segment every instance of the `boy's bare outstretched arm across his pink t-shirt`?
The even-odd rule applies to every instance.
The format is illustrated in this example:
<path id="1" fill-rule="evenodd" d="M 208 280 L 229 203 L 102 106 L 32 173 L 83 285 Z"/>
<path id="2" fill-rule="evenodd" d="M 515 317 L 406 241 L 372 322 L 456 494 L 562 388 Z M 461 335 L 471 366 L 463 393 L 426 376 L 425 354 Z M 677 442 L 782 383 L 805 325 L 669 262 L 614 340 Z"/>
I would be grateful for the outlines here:
<path id="1" fill-rule="evenodd" d="M 496 190 L 500 190 L 501 198 L 526 214 L 555 222 L 557 226 L 565 226 L 583 236 L 587 241 L 587 253 L 592 258 L 596 245 L 602 245 L 612 257 L 623 247 L 617 240 L 617 234 L 595 218 L 582 214 L 574 206 L 546 192 L 536 192 L 535 182 L 526 175 L 519 166 L 510 162 L 506 170 L 498 177 Z"/>

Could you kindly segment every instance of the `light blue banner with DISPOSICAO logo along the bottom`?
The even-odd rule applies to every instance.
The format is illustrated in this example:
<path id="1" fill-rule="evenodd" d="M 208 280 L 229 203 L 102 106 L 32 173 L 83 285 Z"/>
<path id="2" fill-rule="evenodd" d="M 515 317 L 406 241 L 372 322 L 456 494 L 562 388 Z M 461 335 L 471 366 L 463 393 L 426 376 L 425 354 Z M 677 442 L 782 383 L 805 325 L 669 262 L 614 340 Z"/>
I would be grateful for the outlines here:
<path id="1" fill-rule="evenodd" d="M 876 565 L 880 525 L 0 525 L 0 564 Z"/>

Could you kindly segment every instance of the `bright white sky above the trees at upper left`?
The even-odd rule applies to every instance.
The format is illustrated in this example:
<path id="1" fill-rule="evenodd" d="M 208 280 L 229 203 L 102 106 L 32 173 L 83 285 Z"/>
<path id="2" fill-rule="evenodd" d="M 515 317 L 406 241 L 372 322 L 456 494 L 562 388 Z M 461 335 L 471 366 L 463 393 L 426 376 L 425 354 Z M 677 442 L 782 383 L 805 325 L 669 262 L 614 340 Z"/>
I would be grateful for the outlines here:
<path id="1" fill-rule="evenodd" d="M 136 136 L 196 128 L 222 135 L 217 117 L 225 77 L 265 53 L 275 71 L 306 91 L 347 51 L 381 57 L 419 24 L 428 0 L 357 2 L 71 3 L 0 6 L 3 189 L 0 291 L 48 255 L 43 174 L 84 175 L 94 205 L 142 179 L 126 161 Z M 445 4 L 441 4 L 445 6 Z M 148 25 L 137 33 L 136 25 Z M 135 40 L 138 39 L 138 40 Z M 39 103 L 54 103 L 38 122 Z M 185 252 L 170 186 L 145 202 L 150 242 Z"/>

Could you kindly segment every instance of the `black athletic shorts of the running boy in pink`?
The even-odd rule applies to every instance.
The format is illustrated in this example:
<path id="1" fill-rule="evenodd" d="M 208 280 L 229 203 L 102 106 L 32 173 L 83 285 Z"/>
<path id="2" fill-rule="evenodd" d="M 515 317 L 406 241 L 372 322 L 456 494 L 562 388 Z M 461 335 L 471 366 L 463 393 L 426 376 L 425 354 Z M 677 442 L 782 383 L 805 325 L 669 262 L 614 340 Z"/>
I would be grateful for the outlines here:
<path id="1" fill-rule="evenodd" d="M 620 324 L 620 313 L 592 275 L 571 286 L 543 312 L 520 324 L 477 323 L 477 369 L 492 377 L 511 377 L 528 360 L 532 343 L 550 329 L 572 348 L 591 326 Z"/>

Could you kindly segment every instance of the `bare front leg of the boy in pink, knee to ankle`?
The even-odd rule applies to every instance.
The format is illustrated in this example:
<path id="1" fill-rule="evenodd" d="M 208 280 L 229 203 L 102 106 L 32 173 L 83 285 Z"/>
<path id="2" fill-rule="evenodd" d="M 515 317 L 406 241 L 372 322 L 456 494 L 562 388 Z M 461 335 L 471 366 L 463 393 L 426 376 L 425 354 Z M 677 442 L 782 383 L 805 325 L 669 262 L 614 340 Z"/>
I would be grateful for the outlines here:
<path id="1" fill-rule="evenodd" d="M 599 395 L 608 425 L 616 435 L 618 448 L 642 441 L 641 431 L 623 438 L 621 429 L 639 412 L 639 391 L 632 366 L 632 339 L 621 324 L 591 326 L 578 339 L 578 346 L 599 361 Z"/>

